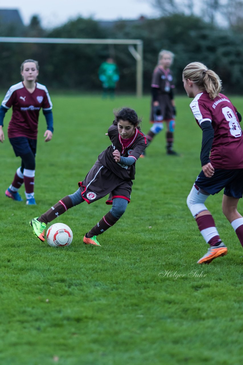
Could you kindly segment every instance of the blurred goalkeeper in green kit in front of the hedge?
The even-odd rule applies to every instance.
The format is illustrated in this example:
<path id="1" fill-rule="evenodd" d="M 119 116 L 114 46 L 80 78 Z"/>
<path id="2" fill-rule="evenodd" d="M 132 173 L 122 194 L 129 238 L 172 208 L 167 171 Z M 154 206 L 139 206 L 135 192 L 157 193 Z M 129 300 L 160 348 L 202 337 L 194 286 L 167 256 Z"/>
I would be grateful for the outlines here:
<path id="1" fill-rule="evenodd" d="M 99 80 L 102 82 L 102 96 L 114 98 L 115 87 L 119 80 L 119 70 L 114 59 L 109 57 L 99 66 Z"/>

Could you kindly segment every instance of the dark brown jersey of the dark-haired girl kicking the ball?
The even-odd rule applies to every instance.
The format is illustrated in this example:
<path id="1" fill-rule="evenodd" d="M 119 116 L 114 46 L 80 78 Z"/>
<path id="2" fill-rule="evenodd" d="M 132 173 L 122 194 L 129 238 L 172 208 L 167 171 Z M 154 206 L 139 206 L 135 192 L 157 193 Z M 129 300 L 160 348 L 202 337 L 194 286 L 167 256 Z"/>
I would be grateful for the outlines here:
<path id="1" fill-rule="evenodd" d="M 118 127 L 112 125 L 108 129 L 108 136 L 111 141 L 111 146 L 98 156 L 98 160 L 103 166 L 106 166 L 114 174 L 122 178 L 123 180 L 134 180 L 135 178 L 135 163 L 131 166 L 122 165 L 119 162 L 115 162 L 113 157 L 113 151 L 118 150 L 121 156 L 133 157 L 135 161 L 140 157 L 142 152 L 148 145 L 145 135 L 136 128 L 135 134 L 132 138 L 122 139 L 118 132 Z"/>

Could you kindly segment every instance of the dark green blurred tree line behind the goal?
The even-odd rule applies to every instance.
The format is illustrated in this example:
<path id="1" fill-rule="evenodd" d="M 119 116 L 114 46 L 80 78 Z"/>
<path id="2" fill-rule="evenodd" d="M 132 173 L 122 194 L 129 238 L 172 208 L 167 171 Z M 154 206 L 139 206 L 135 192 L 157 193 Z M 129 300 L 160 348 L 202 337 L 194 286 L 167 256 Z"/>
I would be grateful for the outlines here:
<path id="1" fill-rule="evenodd" d="M 164 2 L 161 2 L 164 4 Z M 170 3 L 170 1 L 168 2 Z M 227 28 L 194 14 L 169 13 L 156 19 L 120 20 L 103 25 L 92 18 L 77 18 L 50 30 L 43 29 L 38 16 L 28 26 L 0 23 L 4 37 L 115 38 L 144 42 L 144 92 L 150 91 L 151 76 L 161 49 L 175 53 L 173 72 L 177 93 L 183 92 L 182 70 L 189 62 L 203 62 L 223 81 L 224 92 L 243 90 L 243 34 L 239 27 Z M 98 68 L 113 57 L 120 71 L 118 92 L 134 93 L 136 61 L 125 45 L 71 45 L 0 43 L 1 89 L 19 82 L 19 66 L 24 59 L 37 59 L 39 81 L 48 89 L 98 92 Z"/>

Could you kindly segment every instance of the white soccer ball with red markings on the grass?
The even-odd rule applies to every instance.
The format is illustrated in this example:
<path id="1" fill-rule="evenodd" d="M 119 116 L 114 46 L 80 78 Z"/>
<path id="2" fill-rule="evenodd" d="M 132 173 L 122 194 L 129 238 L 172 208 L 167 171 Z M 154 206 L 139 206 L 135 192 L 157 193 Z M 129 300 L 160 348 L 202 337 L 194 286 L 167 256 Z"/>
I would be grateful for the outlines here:
<path id="1" fill-rule="evenodd" d="M 72 242 L 72 231 L 67 224 L 54 223 L 46 233 L 47 243 L 53 247 L 69 246 Z"/>

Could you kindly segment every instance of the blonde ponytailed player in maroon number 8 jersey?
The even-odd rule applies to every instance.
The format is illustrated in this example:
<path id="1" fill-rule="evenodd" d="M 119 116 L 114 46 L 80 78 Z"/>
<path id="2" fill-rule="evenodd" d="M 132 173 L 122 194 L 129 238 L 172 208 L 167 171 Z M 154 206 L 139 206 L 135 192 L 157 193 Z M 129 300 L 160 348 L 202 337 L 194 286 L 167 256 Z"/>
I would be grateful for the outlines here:
<path id="1" fill-rule="evenodd" d="M 243 194 L 243 135 L 241 115 L 227 96 L 220 93 L 219 76 L 200 62 L 192 62 L 183 70 L 183 83 L 197 124 L 203 132 L 201 145 L 202 171 L 187 198 L 187 205 L 205 241 L 207 253 L 197 261 L 209 264 L 227 254 L 211 213 L 205 206 L 209 195 L 224 188 L 222 209 L 243 246 L 243 218 L 237 211 Z"/>

